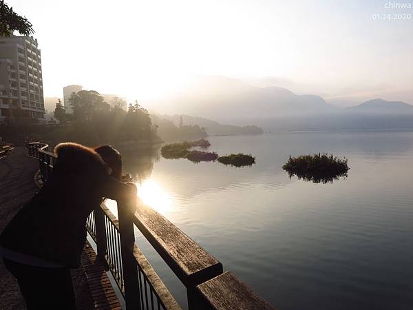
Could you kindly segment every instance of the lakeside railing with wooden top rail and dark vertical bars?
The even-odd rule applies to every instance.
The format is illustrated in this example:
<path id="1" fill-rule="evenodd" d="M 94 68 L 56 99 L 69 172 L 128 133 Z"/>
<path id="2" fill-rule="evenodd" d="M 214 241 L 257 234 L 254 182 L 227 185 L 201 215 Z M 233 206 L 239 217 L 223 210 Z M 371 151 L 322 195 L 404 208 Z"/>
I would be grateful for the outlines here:
<path id="1" fill-rule="evenodd" d="M 56 154 L 39 142 L 28 143 L 28 152 L 39 158 L 41 178 L 47 181 Z M 103 202 L 89 215 L 86 227 L 96 242 L 98 258 L 125 298 L 127 310 L 180 309 L 135 244 L 135 225 L 187 287 L 189 309 L 274 309 L 232 273 L 223 273 L 221 262 L 157 211 L 139 199 L 117 203 L 118 218 Z"/>

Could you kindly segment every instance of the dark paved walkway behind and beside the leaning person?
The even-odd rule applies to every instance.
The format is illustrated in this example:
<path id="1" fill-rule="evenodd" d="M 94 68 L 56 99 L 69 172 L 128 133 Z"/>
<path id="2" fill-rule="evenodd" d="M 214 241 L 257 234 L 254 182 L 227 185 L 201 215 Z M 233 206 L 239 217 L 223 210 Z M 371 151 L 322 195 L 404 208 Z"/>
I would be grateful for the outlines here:
<path id="1" fill-rule="evenodd" d="M 25 147 L 16 147 L 10 156 L 0 159 L 0 232 L 38 190 L 33 178 L 38 169 L 39 162 L 27 156 Z M 78 309 L 94 309 L 83 269 L 74 269 L 72 277 Z M 26 309 L 16 280 L 1 259 L 0 309 Z"/>

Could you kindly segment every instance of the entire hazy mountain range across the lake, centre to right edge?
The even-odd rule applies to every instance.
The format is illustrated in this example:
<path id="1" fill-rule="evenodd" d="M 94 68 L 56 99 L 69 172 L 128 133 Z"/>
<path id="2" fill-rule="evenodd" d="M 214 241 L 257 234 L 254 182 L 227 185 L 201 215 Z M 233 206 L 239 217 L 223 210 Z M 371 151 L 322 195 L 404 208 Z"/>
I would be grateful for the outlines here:
<path id="1" fill-rule="evenodd" d="M 153 107 L 165 114 L 202 116 L 233 125 L 255 124 L 265 130 L 413 128 L 413 105 L 402 101 L 373 99 L 353 107 L 338 107 L 314 94 L 257 87 L 222 76 L 198 79 L 187 90 L 157 101 Z M 191 124 L 203 126 L 202 118 Z"/>

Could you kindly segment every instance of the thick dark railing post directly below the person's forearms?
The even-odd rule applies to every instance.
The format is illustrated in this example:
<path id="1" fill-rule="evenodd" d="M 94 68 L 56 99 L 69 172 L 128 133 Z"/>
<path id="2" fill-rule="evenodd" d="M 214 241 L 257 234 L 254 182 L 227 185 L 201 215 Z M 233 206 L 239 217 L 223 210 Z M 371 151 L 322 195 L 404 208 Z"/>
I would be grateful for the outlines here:
<path id="1" fill-rule="evenodd" d="M 138 268 L 134 260 L 134 222 L 132 220 L 136 205 L 135 199 L 118 200 L 118 219 L 120 232 L 120 251 L 122 252 L 123 282 L 125 285 L 125 304 L 127 310 L 140 310 Z"/>

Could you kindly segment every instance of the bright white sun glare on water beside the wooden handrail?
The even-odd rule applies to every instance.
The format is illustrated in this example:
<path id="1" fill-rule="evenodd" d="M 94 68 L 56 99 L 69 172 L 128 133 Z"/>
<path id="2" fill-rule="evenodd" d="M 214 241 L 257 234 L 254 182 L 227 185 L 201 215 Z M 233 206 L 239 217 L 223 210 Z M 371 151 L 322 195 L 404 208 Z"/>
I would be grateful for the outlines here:
<path id="1" fill-rule="evenodd" d="M 149 205 L 162 214 L 171 209 L 171 197 L 154 180 L 145 180 L 136 186 L 138 187 L 138 196 L 145 205 Z"/>

